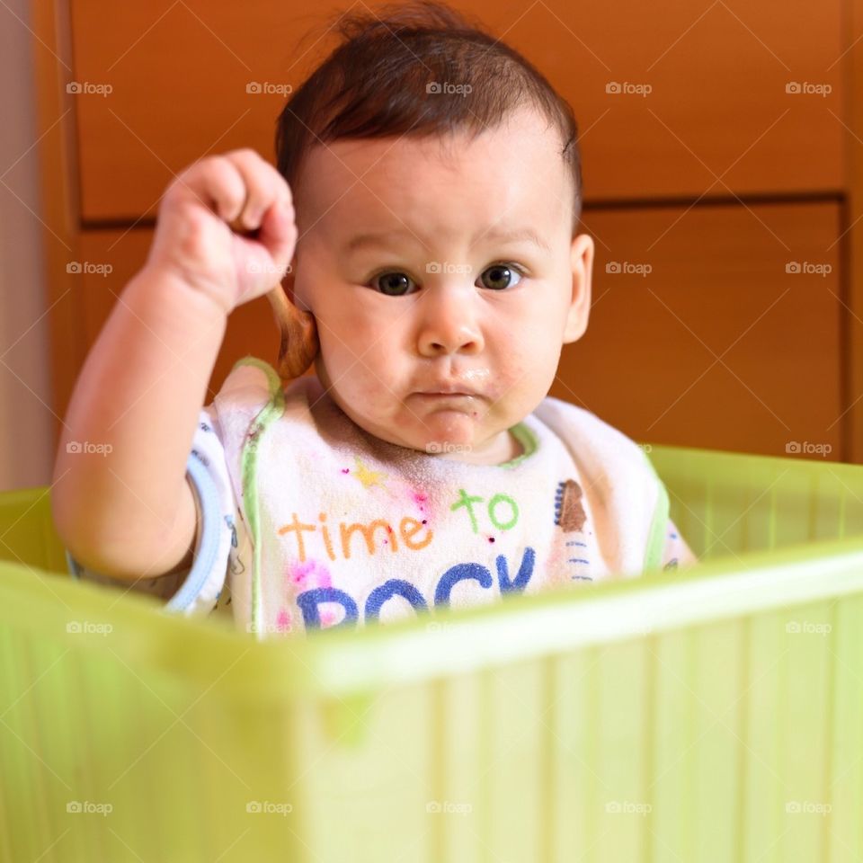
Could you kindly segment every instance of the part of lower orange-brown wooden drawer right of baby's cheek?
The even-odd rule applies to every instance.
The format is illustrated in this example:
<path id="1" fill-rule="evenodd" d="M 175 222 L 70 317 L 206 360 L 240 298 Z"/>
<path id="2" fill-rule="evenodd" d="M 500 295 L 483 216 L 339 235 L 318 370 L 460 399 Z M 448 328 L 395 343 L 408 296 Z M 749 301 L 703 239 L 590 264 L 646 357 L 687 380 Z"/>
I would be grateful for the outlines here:
<path id="1" fill-rule="evenodd" d="M 838 204 L 594 211 L 585 222 L 597 246 L 591 318 L 551 395 L 636 440 L 776 456 L 808 442 L 841 458 Z"/>

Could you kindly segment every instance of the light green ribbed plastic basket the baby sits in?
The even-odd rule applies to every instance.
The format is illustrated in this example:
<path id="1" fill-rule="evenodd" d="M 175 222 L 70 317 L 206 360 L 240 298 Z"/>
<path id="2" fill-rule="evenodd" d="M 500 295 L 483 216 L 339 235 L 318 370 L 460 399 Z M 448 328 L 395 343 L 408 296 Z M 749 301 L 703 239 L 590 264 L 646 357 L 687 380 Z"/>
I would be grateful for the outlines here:
<path id="1" fill-rule="evenodd" d="M 863 858 L 863 467 L 650 455 L 689 570 L 262 643 L 2 495 L 0 859 Z"/>

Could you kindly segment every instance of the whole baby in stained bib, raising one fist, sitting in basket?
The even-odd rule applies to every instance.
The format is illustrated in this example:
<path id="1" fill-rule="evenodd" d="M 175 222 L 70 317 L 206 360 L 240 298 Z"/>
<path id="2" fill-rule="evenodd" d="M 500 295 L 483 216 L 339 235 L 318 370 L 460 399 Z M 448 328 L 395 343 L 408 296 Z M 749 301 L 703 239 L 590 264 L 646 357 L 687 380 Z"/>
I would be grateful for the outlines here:
<path id="1" fill-rule="evenodd" d="M 695 560 L 644 450 L 547 396 L 591 304 L 572 111 L 446 6 L 378 14 L 285 105 L 278 170 L 235 150 L 165 191 L 58 449 L 73 574 L 264 637 Z M 204 405 L 279 280 L 316 374 L 246 357 Z"/>

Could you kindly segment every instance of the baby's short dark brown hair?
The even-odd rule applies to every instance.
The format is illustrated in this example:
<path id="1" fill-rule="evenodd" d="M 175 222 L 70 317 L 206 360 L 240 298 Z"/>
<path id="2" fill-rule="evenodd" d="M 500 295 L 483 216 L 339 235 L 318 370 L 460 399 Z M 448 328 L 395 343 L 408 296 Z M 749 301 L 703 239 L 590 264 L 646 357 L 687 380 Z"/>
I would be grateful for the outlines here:
<path id="1" fill-rule="evenodd" d="M 316 144 L 456 131 L 473 138 L 529 105 L 563 142 L 575 235 L 582 210 L 578 126 L 568 102 L 518 51 L 434 0 L 342 13 L 334 29 L 341 44 L 291 94 L 277 120 L 276 164 L 292 189 Z"/>

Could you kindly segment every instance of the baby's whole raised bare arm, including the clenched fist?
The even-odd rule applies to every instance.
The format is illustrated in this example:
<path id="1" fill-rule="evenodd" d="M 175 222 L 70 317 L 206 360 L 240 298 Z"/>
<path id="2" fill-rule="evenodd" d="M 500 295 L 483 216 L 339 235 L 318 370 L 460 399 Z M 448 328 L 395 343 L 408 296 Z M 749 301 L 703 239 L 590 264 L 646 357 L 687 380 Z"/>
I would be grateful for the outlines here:
<path id="1" fill-rule="evenodd" d="M 227 226 L 241 216 L 257 238 Z M 288 184 L 252 150 L 201 159 L 165 192 L 147 263 L 85 361 L 58 443 L 52 514 L 86 568 L 131 581 L 191 565 L 186 462 L 227 316 L 273 287 L 296 238 Z"/>

